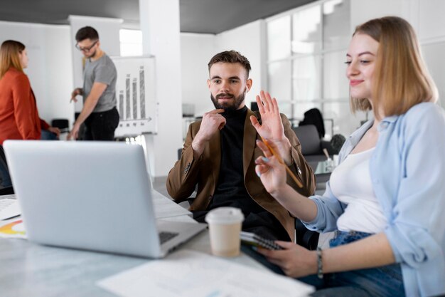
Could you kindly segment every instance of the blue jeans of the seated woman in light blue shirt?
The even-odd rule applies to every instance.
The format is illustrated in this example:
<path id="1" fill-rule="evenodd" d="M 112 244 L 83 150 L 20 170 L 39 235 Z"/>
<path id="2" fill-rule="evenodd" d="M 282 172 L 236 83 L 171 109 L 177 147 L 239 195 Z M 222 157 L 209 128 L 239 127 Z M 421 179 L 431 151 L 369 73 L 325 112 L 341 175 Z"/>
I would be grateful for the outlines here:
<path id="1" fill-rule="evenodd" d="M 358 231 L 337 231 L 330 246 L 341 246 L 358 241 L 371 234 Z M 391 264 L 373 269 L 358 269 L 338 273 L 327 273 L 323 279 L 306 276 L 299 281 L 315 286 L 317 291 L 311 296 L 404 296 L 402 270 L 400 264 Z"/>

